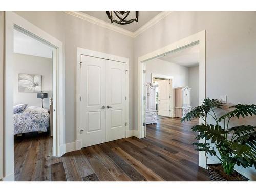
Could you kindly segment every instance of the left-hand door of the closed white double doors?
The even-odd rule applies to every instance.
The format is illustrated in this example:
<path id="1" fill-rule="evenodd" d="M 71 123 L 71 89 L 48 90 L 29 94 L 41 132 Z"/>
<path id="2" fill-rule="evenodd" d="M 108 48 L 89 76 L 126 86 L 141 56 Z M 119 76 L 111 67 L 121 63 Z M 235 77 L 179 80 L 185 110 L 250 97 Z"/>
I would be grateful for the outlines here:
<path id="1" fill-rule="evenodd" d="M 106 142 L 106 60 L 81 55 L 82 147 Z"/>

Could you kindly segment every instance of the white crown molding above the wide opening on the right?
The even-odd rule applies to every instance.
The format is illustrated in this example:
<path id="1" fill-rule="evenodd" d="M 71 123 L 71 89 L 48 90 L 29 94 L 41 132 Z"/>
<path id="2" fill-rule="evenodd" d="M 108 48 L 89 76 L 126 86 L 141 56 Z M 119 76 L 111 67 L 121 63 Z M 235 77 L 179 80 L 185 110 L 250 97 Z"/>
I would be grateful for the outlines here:
<path id="1" fill-rule="evenodd" d="M 162 11 L 161 13 L 159 13 L 158 15 L 153 17 L 151 20 L 149 20 L 147 23 L 145 23 L 143 26 L 141 26 L 139 29 L 137 29 L 133 33 L 133 37 L 137 37 L 139 34 L 143 33 L 148 28 L 152 27 L 153 25 L 158 23 L 161 19 L 163 19 L 164 17 L 166 17 L 167 15 L 169 15 L 172 12 L 173 11 Z"/>

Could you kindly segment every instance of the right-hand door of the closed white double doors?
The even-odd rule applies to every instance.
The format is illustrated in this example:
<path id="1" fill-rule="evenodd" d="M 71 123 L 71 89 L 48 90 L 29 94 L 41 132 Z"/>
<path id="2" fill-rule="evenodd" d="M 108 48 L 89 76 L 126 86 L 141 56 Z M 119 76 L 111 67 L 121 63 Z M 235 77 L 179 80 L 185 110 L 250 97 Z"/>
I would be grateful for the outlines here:
<path id="1" fill-rule="evenodd" d="M 108 142 L 126 136 L 126 66 L 117 61 L 106 62 L 106 141 Z"/>

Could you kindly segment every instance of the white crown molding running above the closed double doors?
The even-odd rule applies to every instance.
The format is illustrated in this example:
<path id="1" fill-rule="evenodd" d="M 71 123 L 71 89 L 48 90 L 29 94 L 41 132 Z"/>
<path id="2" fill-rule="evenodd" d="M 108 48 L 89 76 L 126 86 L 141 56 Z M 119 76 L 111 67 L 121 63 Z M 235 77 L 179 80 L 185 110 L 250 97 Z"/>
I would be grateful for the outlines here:
<path id="1" fill-rule="evenodd" d="M 121 27 L 115 26 L 113 24 L 104 22 L 103 20 L 100 20 L 100 19 L 98 19 L 96 17 L 93 17 L 91 15 L 88 15 L 86 13 L 82 13 L 80 11 L 65 11 L 65 13 L 73 15 L 73 16 L 78 17 L 78 18 L 81 18 L 83 20 L 86 20 L 87 22 L 99 25 L 101 27 L 110 29 L 112 31 L 115 31 L 115 32 L 118 32 L 118 33 L 121 33 L 121 34 L 124 34 L 124 35 L 127 35 L 127 36 L 130 36 L 130 37 L 134 37 L 133 32 L 128 31 L 126 29 L 123 29 Z"/>

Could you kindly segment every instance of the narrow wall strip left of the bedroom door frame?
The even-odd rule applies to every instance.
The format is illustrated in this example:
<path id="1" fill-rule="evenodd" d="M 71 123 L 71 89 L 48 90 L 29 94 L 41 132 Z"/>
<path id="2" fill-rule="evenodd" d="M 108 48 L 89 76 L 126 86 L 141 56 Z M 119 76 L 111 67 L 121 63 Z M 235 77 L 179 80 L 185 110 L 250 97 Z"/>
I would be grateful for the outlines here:
<path id="1" fill-rule="evenodd" d="M 3 178 L 4 145 L 4 12 L 0 11 L 0 180 Z"/>

